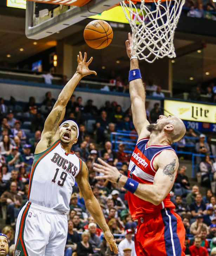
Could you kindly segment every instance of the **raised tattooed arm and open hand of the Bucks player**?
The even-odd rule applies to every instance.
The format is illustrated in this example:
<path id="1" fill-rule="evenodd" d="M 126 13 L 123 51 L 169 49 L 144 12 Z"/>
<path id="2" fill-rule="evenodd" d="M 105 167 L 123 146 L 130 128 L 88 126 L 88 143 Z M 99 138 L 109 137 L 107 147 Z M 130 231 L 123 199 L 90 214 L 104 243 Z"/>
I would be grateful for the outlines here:
<path id="1" fill-rule="evenodd" d="M 64 86 L 62 91 L 60 92 L 55 105 L 53 106 L 52 111 L 46 118 L 44 124 L 44 130 L 41 134 L 41 140 L 39 141 L 35 153 L 40 153 L 50 147 L 55 141 L 59 139 L 59 124 L 64 118 L 65 115 L 65 107 L 71 98 L 71 95 L 76 88 L 77 84 L 79 83 L 80 79 L 89 74 L 97 73 L 95 71 L 89 70 L 89 64 L 92 62 L 91 59 L 86 62 L 86 53 L 84 54 L 84 58 L 79 52 L 77 55 L 77 72 L 73 75 L 73 77 L 68 81 L 68 83 Z"/>

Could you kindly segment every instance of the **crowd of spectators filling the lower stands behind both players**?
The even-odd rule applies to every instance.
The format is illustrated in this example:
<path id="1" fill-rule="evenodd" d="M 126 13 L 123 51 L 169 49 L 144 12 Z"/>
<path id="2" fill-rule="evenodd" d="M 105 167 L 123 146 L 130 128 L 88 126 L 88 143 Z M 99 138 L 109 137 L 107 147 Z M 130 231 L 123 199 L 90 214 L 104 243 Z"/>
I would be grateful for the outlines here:
<path id="1" fill-rule="evenodd" d="M 153 86 L 153 85 L 151 85 Z M 155 87 L 157 90 L 157 86 Z M 44 121 L 51 111 L 55 99 L 50 92 L 45 95 L 44 101 L 39 105 L 34 97 L 24 107 L 17 104 L 11 97 L 5 104 L 0 99 L 0 208 L 1 218 L 5 219 L 6 226 L 0 227 L 5 233 L 14 249 L 14 228 L 17 215 L 25 205 L 28 195 L 28 183 L 31 166 L 34 159 L 34 150 L 40 141 Z M 149 102 L 146 102 L 148 107 Z M 163 114 L 159 104 L 155 103 L 153 109 L 147 109 L 146 115 L 150 122 L 156 122 Z M 94 129 L 89 133 L 86 120 L 95 120 Z M 131 108 L 124 111 L 115 101 L 106 101 L 98 109 L 93 100 L 87 100 L 84 105 L 82 98 L 72 96 L 67 104 L 65 119 L 73 119 L 79 125 L 79 138 L 72 147 L 74 153 L 85 161 L 89 169 L 89 183 L 94 196 L 97 198 L 104 213 L 107 225 L 118 243 L 120 256 L 135 256 L 133 234 L 137 222 L 132 220 L 127 203 L 127 191 L 119 188 L 93 170 L 93 163 L 101 157 L 110 165 L 127 175 L 130 153 L 125 152 L 125 144 L 119 143 L 118 150 L 113 150 L 111 133 L 117 130 L 134 131 Z M 204 134 L 198 134 L 188 129 L 185 139 L 179 142 L 182 151 L 202 153 L 204 157 L 197 158 L 199 171 L 203 182 L 210 185 L 215 180 L 215 146 Z M 178 148 L 179 149 L 179 148 Z M 180 166 L 174 187 L 170 193 L 171 201 L 175 204 L 174 211 L 183 220 L 185 226 L 186 255 L 198 255 L 197 251 L 208 253 L 216 250 L 216 198 L 211 189 L 206 195 L 199 193 L 197 185 L 191 186 L 186 167 Z M 68 216 L 68 236 L 65 247 L 65 256 L 110 256 L 110 251 L 103 233 L 87 212 L 83 197 L 77 185 L 73 188 Z M 195 253 L 195 254 L 194 254 Z M 211 254 L 213 255 L 213 254 Z"/>

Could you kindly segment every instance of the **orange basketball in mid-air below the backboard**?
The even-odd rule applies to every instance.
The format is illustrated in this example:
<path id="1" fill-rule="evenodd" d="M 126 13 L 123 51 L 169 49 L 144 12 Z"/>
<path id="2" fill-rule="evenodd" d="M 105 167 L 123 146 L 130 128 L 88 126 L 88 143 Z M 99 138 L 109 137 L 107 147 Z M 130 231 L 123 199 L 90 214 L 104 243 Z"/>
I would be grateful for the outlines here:
<path id="1" fill-rule="evenodd" d="M 87 45 L 94 49 L 103 49 L 107 47 L 113 37 L 112 28 L 104 20 L 93 20 L 84 30 L 84 39 Z"/>

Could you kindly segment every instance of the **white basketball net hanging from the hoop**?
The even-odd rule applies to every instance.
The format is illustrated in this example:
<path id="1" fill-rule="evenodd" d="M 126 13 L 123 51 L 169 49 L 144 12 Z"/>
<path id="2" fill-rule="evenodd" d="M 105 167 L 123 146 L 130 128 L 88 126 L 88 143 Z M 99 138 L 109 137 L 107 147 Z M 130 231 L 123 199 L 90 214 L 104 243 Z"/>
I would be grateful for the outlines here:
<path id="1" fill-rule="evenodd" d="M 185 0 L 153 0 L 154 10 L 140 1 L 140 10 L 131 0 L 120 3 L 133 33 L 132 56 L 149 63 L 176 57 L 173 39 Z"/>

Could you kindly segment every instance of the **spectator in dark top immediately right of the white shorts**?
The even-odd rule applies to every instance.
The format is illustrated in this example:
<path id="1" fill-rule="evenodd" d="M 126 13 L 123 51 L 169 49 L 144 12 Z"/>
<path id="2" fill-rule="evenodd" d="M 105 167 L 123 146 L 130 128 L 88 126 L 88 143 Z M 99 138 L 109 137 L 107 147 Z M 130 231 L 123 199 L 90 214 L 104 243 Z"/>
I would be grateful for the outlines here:
<path id="1" fill-rule="evenodd" d="M 65 256 L 72 256 L 73 251 L 77 249 L 77 243 L 80 242 L 79 234 L 73 230 L 73 221 L 68 220 L 67 241 L 65 246 Z"/>

